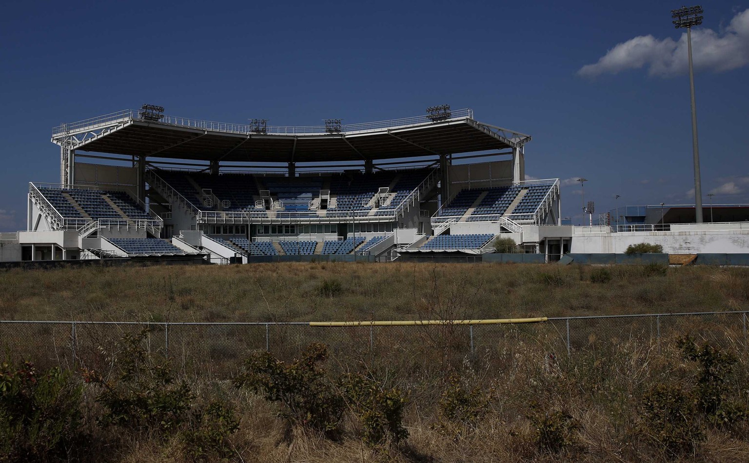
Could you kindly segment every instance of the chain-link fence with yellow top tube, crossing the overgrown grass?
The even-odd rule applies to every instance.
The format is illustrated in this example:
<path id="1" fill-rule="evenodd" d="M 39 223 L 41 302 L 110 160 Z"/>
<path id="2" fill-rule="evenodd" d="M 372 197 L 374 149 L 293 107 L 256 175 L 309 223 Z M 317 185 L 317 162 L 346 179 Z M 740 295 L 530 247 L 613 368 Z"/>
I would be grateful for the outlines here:
<path id="1" fill-rule="evenodd" d="M 557 359 L 606 351 L 622 342 L 661 342 L 693 336 L 744 351 L 747 312 L 699 312 L 548 318 L 524 324 L 313 327 L 287 323 L 139 323 L 0 321 L 0 347 L 39 366 L 106 368 L 127 333 L 147 330 L 143 347 L 172 359 L 184 374 L 226 377 L 252 351 L 291 360 L 312 342 L 329 346 L 339 362 L 398 363 L 410 370 L 446 361 L 507 357 L 534 345 Z"/>

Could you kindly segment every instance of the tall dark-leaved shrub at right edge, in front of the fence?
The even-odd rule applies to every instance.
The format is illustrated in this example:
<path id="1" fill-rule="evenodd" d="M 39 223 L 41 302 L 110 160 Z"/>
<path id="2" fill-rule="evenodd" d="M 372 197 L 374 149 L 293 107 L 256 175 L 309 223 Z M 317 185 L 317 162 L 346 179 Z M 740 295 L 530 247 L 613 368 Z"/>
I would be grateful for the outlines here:
<path id="1" fill-rule="evenodd" d="M 700 363 L 695 390 L 697 408 L 709 422 L 716 426 L 733 426 L 745 420 L 748 416 L 746 406 L 732 400 L 726 386 L 736 356 L 706 344 L 698 347 L 689 337 L 679 339 L 678 345 L 686 360 Z"/>

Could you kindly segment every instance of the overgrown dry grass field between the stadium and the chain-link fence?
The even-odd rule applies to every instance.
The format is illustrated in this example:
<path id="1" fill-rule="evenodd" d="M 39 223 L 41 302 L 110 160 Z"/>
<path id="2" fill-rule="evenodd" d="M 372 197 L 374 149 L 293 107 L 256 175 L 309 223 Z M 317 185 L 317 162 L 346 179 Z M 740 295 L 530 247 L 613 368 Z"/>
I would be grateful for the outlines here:
<path id="1" fill-rule="evenodd" d="M 309 321 L 409 319 L 457 294 L 476 318 L 749 308 L 749 269 L 515 264 L 282 263 L 0 271 L 0 318 Z M 321 291 L 339 282 L 333 297 Z M 453 299 L 456 299 L 453 297 Z"/>

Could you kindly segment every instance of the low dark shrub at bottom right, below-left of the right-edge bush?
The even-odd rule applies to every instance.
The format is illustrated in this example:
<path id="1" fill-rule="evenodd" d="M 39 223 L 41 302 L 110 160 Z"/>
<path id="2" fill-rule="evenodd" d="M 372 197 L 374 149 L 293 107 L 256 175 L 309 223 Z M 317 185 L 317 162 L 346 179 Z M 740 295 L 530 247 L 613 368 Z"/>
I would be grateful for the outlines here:
<path id="1" fill-rule="evenodd" d="M 642 399 L 637 431 L 669 456 L 694 453 L 704 434 L 694 398 L 679 384 L 656 384 Z"/>

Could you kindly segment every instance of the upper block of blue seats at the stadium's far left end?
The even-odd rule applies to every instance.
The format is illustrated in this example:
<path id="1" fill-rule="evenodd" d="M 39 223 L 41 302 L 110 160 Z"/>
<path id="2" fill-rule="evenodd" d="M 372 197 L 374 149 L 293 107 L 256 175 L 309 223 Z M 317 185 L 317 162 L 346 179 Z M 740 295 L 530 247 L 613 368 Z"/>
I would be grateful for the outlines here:
<path id="1" fill-rule="evenodd" d="M 85 190 L 82 188 L 48 188 L 40 187 L 40 193 L 52 206 L 68 219 L 83 219 L 83 214 L 76 208 L 76 204 L 88 214 L 91 219 L 153 219 L 137 202 L 122 191 Z M 67 195 L 67 196 L 66 196 Z M 124 214 L 120 214 L 106 201 L 109 198 Z M 70 199 L 73 199 L 73 202 Z"/>

